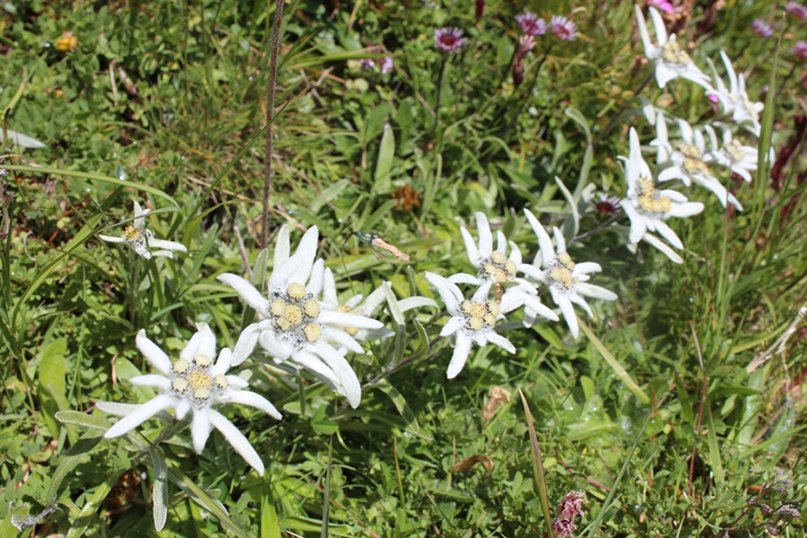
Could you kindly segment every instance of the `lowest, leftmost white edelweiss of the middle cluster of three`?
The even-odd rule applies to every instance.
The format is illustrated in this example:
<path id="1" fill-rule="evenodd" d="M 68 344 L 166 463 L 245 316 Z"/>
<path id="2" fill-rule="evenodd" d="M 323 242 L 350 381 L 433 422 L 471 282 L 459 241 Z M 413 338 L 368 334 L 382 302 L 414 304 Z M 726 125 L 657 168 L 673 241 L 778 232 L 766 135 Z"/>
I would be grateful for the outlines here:
<path id="1" fill-rule="evenodd" d="M 516 352 L 513 344 L 493 329 L 499 319 L 504 319 L 504 315 L 498 302 L 488 300 L 491 282 L 483 283 L 471 299 L 465 299 L 463 292 L 454 282 L 439 274 L 427 272 L 426 280 L 437 289 L 448 313 L 451 314 L 451 319 L 440 331 L 440 336 L 454 334 L 456 338 L 454 353 L 451 355 L 451 362 L 448 363 L 449 379 L 453 379 L 462 371 L 471 353 L 471 343 L 479 346 L 492 343 L 503 350 Z"/>

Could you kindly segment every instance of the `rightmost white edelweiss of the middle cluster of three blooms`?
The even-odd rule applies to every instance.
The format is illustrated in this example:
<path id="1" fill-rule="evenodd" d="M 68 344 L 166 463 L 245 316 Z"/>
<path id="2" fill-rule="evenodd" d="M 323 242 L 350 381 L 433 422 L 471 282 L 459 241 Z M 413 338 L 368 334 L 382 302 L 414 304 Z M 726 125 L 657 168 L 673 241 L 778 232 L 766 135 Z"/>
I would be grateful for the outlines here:
<path id="1" fill-rule="evenodd" d="M 566 318 L 568 330 L 573 337 L 577 338 L 579 326 L 577 325 L 577 315 L 572 303 L 586 310 L 589 317 L 594 317 L 594 313 L 588 306 L 586 299 L 581 296 L 605 300 L 616 300 L 617 296 L 605 288 L 586 282 L 591 278 L 589 273 L 599 273 L 603 270 L 599 264 L 594 262 L 575 264 L 571 256 L 568 256 L 566 252 L 566 239 L 563 239 L 563 234 L 557 228 L 552 230 L 557 245 L 556 254 L 555 248 L 552 247 L 552 239 L 543 229 L 541 222 L 528 209 L 525 209 L 524 213 L 527 220 L 530 221 L 535 235 L 538 236 L 538 247 L 541 250 L 535 256 L 533 265 L 523 264 L 519 265 L 518 268 L 527 276 L 549 287 L 552 300 L 560 308 L 563 317 Z"/>

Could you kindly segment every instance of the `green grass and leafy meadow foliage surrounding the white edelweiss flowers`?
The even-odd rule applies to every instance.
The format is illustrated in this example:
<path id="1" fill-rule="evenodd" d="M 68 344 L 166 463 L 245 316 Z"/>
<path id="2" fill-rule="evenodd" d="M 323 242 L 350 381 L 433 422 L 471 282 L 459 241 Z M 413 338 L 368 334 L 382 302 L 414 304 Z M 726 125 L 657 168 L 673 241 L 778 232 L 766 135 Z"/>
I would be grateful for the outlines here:
<path id="1" fill-rule="evenodd" d="M 766 2 L 729 0 L 701 28 L 713 7 L 696 5 L 680 39 L 697 45 L 699 65 L 724 49 L 752 70 L 754 100 L 766 86 L 775 92 L 766 114 L 778 151 L 803 110 L 803 68 L 789 52 L 803 24 L 772 18 Z M 534 253 L 521 210 L 560 225 L 568 206 L 555 176 L 571 190 L 587 182 L 624 194 L 616 156 L 628 152 L 628 126 L 645 142 L 654 135 L 633 97 L 650 69 L 633 5 L 577 7 L 581 36 L 555 41 L 543 59 L 550 39 L 539 41 L 525 60 L 525 84 L 514 88 L 514 16 L 525 8 L 571 12 L 562 2 L 489 1 L 474 24 L 473 3 L 286 4 L 272 221 L 275 229 L 319 227 L 320 254 L 343 299 L 385 280 L 399 298 L 434 296 L 424 271 L 470 271 L 459 226 L 473 228 L 476 211 Z M 4 4 L 6 128 L 46 147 L 16 147 L 2 161 L 10 172 L 0 191 L 0 534 L 17 535 L 13 515 L 56 501 L 33 534 L 540 535 L 546 522 L 518 389 L 534 414 L 551 503 L 586 492 L 580 535 L 763 536 L 762 525 L 777 522 L 750 501 L 763 483 L 782 480 L 794 483 L 764 490 L 762 502 L 807 511 L 803 325 L 781 350 L 771 348 L 805 303 L 803 140 L 783 188 L 773 189 L 764 169 L 754 185 L 733 184 L 743 213 L 692 192 L 707 211 L 676 223 L 684 265 L 646 247 L 633 255 L 612 229 L 570 250 L 603 265 L 595 282 L 620 295 L 594 301 L 597 317 L 586 323 L 646 402 L 615 376 L 594 339 L 572 340 L 562 323 L 508 332 L 514 355 L 474 348 L 449 382 L 447 343 L 424 345 L 439 332 L 426 310 L 426 334 L 407 326 L 373 343 L 371 355 L 350 358 L 365 382 L 394 369 L 366 387 L 357 410 L 319 384 L 301 394 L 276 372 L 254 370 L 252 385 L 284 420 L 224 412 L 263 457 L 264 479 L 215 432 L 201 456 L 182 430 L 150 447 L 146 440 L 163 429 L 157 421 L 128 442 L 100 438 L 108 422 L 94 402 L 153 395 L 126 383 L 148 371 L 134 347 L 138 330 L 169 353 L 197 321 L 213 327 L 221 346 L 238 337 L 243 306 L 215 276 L 246 273 L 243 254 L 252 266 L 259 252 L 272 16 L 273 6 L 243 0 Z M 778 24 L 778 43 L 751 33 L 756 17 Z M 462 28 L 469 43 L 447 59 L 436 117 L 445 56 L 433 47 L 433 29 L 445 25 Z M 72 51 L 56 48 L 65 31 L 77 39 Z M 388 54 L 390 74 L 359 65 Z M 703 92 L 684 81 L 642 95 L 678 117 L 708 120 Z M 386 124 L 392 154 L 381 143 Z M 405 185 L 419 206 L 396 205 L 392 195 Z M 183 242 L 189 255 L 144 263 L 97 239 L 121 231 L 133 200 L 148 200 L 155 235 Z M 606 221 L 588 208 L 581 231 Z M 353 230 L 383 232 L 411 264 L 378 255 Z M 294 244 L 299 233 L 292 236 Z M 768 348 L 777 352 L 749 373 Z M 401 360 L 412 362 L 395 369 Z M 486 420 L 492 386 L 514 397 Z M 54 418 L 70 410 L 82 414 Z M 453 471 L 479 455 L 492 470 Z M 157 533 L 159 473 L 170 477 L 169 512 Z M 131 475 L 142 478 L 126 479 L 134 485 L 123 509 L 115 499 Z M 777 529 L 798 536 L 803 525 Z"/>

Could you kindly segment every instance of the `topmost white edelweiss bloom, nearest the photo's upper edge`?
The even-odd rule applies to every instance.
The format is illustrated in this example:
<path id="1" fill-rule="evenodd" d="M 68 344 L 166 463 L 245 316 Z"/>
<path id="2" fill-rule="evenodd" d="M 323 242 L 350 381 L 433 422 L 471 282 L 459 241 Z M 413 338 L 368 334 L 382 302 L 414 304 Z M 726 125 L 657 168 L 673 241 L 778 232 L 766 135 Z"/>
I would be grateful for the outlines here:
<path id="1" fill-rule="evenodd" d="M 695 65 L 690 55 L 681 48 L 675 34 L 667 36 L 667 29 L 664 27 L 664 19 L 661 13 L 658 13 L 653 7 L 648 8 L 650 18 L 653 19 L 653 26 L 655 27 L 655 39 L 658 41 L 658 46 L 655 46 L 653 41 L 650 40 L 645 16 L 642 14 L 641 8 L 638 5 L 634 7 L 636 8 L 636 21 L 639 34 L 642 37 L 642 45 L 645 47 L 645 56 L 647 56 L 648 60 L 655 62 L 655 81 L 658 82 L 658 87 L 664 88 L 667 82 L 681 77 L 695 82 L 713 93 L 714 89 L 709 83 L 709 77 L 700 70 L 698 65 Z"/>

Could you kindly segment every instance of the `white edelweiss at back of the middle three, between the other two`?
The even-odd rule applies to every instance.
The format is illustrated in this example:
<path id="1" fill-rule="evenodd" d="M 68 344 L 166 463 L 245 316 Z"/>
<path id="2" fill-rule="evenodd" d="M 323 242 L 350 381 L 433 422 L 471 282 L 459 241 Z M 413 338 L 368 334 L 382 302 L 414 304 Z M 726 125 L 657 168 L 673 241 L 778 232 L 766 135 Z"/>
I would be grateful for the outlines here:
<path id="1" fill-rule="evenodd" d="M 493 250 L 493 234 L 490 232 L 488 217 L 482 212 L 474 213 L 473 216 L 476 218 L 479 246 L 477 247 L 471 232 L 465 230 L 464 226 L 460 227 L 460 232 L 463 234 L 468 259 L 471 261 L 471 265 L 477 269 L 476 276 L 457 273 L 449 276 L 448 280 L 453 283 L 473 284 L 474 286 L 481 286 L 485 282 L 499 285 L 507 290 L 501 296 L 499 308 L 502 312 L 508 313 L 525 305 L 541 314 L 542 317 L 557 321 L 558 317 L 555 313 L 541 304 L 541 299 L 538 299 L 538 292 L 533 284 L 516 277 L 518 267 L 521 265 L 521 250 L 518 249 L 516 243 L 509 242 L 510 256 L 508 257 L 508 240 L 501 230 L 498 230 L 496 232 L 497 248 Z"/>

